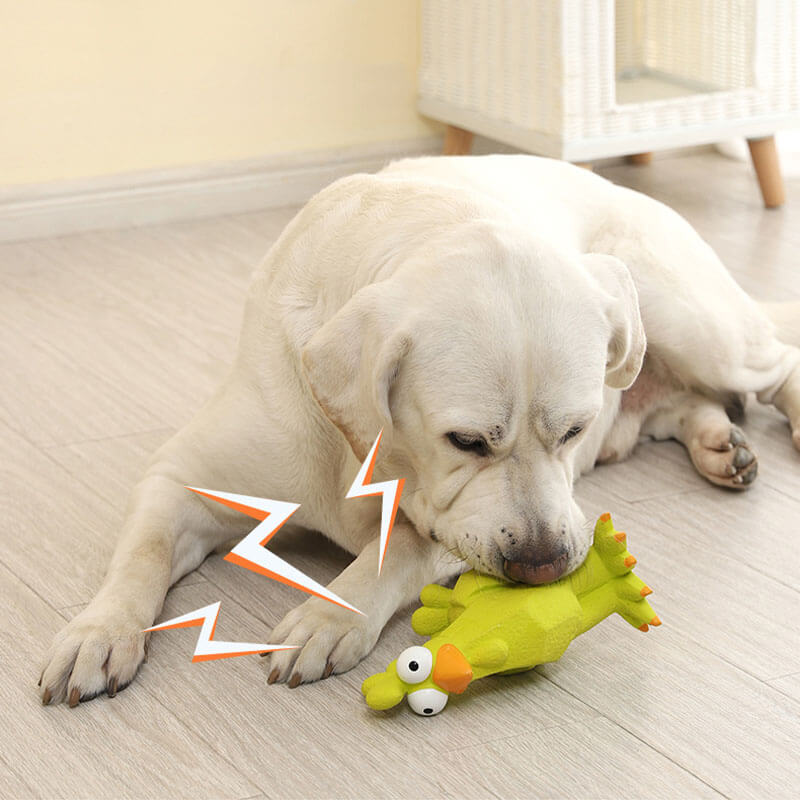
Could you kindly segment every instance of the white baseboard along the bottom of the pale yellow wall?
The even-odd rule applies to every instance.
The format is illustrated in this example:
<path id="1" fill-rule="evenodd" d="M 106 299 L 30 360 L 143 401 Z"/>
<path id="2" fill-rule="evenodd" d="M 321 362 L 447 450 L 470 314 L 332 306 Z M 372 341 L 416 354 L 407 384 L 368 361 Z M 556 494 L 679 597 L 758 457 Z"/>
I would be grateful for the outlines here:
<path id="1" fill-rule="evenodd" d="M 344 175 L 438 152 L 428 137 L 0 189 L 0 242 L 301 204 Z"/>

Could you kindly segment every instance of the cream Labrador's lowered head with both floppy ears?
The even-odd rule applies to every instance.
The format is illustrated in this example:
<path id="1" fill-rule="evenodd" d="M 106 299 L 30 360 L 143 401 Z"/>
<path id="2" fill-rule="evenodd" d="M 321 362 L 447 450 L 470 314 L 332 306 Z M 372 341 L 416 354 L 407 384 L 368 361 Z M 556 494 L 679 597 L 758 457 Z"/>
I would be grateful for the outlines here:
<path id="1" fill-rule="evenodd" d="M 545 583 L 591 528 L 576 452 L 604 387 L 626 388 L 645 338 L 625 265 L 472 222 L 357 292 L 303 352 L 317 402 L 377 472 L 404 477 L 420 534 L 472 567 Z"/>

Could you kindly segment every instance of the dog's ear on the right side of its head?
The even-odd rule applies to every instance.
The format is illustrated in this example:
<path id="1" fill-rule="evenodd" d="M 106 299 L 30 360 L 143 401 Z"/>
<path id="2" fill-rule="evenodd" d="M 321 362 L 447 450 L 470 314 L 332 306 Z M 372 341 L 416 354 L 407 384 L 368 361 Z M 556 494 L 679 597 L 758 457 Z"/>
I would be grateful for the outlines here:
<path id="1" fill-rule="evenodd" d="M 636 286 L 628 268 L 615 256 L 587 253 L 583 263 L 604 292 L 611 296 L 606 310 L 611 325 L 606 385 L 627 389 L 642 368 L 647 348 Z"/>

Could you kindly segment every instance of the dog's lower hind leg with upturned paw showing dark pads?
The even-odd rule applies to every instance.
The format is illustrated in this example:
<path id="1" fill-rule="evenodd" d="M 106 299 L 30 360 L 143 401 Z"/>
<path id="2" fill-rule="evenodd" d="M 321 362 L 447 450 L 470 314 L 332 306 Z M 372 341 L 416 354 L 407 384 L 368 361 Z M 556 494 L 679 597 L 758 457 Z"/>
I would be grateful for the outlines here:
<path id="1" fill-rule="evenodd" d="M 642 433 L 654 439 L 677 439 L 697 471 L 717 486 L 746 489 L 758 473 L 758 459 L 742 429 L 721 403 L 693 392 L 675 392 L 645 420 Z"/>

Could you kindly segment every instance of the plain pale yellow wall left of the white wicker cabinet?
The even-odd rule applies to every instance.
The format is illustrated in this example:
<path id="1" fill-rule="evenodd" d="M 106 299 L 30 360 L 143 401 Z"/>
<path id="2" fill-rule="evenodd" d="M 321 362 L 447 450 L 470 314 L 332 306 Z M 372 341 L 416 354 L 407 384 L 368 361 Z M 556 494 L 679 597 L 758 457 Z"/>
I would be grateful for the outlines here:
<path id="1" fill-rule="evenodd" d="M 417 0 L 0 0 L 0 185 L 429 135 Z"/>

